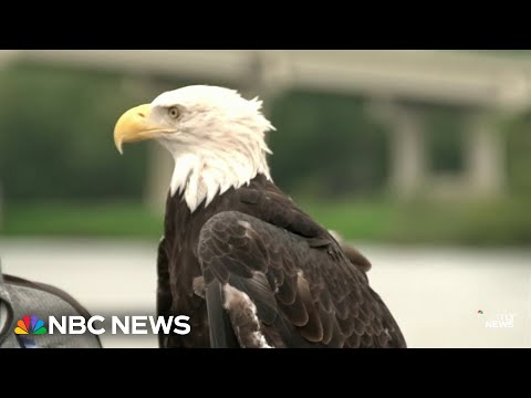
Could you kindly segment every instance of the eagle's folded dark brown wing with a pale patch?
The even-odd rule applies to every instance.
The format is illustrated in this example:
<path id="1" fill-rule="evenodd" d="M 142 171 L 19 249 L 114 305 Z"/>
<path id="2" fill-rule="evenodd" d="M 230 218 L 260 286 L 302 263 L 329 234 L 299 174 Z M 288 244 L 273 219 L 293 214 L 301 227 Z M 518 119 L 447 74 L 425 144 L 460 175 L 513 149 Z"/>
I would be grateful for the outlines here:
<path id="1" fill-rule="evenodd" d="M 225 211 L 202 227 L 198 255 L 212 346 L 406 346 L 335 240 L 312 235 L 317 226 L 295 233 L 296 223 L 278 221 Z"/>

